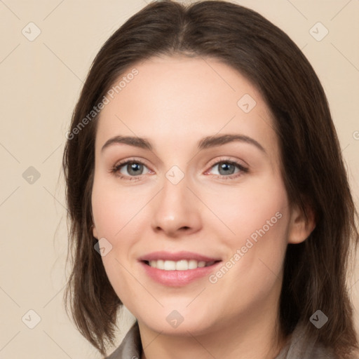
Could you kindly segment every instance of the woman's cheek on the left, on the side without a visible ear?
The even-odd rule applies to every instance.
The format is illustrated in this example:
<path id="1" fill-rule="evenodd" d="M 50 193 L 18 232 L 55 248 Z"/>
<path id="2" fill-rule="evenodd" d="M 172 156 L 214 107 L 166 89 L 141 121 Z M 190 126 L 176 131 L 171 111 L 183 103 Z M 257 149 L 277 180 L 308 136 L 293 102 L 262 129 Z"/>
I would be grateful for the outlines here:
<path id="1" fill-rule="evenodd" d="M 147 197 L 148 193 L 146 196 L 138 187 L 120 190 L 108 179 L 100 176 L 94 179 L 92 208 L 95 227 L 99 238 L 106 238 L 111 248 L 102 256 L 102 262 L 116 294 L 126 303 L 135 300 L 143 289 L 139 286 L 133 290 L 137 282 L 130 273 L 133 273 L 133 248 L 142 233 L 141 210 L 149 201 Z M 130 298 L 126 301 L 128 293 Z"/>

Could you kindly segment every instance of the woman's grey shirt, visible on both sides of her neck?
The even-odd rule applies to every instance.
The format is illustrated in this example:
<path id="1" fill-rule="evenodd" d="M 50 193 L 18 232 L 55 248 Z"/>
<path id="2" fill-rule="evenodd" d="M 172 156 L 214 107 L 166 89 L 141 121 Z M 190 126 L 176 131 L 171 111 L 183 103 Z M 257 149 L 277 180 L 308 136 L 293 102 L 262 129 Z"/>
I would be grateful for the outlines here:
<path id="1" fill-rule="evenodd" d="M 302 343 L 302 327 L 297 326 L 291 340 L 273 359 L 336 359 L 330 349 L 320 345 Z M 114 353 L 107 359 L 141 359 L 142 344 L 137 322 L 130 328 L 126 337 Z"/>

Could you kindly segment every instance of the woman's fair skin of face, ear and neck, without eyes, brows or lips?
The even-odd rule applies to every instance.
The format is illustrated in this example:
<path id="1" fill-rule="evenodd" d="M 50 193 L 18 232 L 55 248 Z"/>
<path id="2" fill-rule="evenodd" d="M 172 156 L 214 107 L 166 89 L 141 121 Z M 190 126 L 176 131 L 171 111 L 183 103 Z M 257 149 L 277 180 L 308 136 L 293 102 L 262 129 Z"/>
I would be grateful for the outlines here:
<path id="1" fill-rule="evenodd" d="M 163 56 L 135 67 L 139 74 L 100 114 L 92 205 L 93 235 L 112 245 L 104 268 L 138 320 L 142 358 L 274 358 L 285 344 L 276 331 L 285 249 L 315 224 L 288 203 L 271 113 L 255 86 L 219 60 Z M 249 113 L 237 104 L 245 94 L 256 102 Z M 223 134 L 251 137 L 264 151 L 243 141 L 198 151 L 203 137 Z M 102 151 L 116 135 L 144 137 L 153 149 Z M 133 158 L 144 162 L 142 175 L 126 165 L 118 170 L 123 178 L 111 172 Z M 248 171 L 223 172 L 219 161 Z M 184 174 L 178 184 L 165 177 L 173 165 Z M 217 283 L 205 276 L 168 287 L 137 260 L 187 250 L 226 263 L 277 212 L 276 224 Z M 173 310 L 184 318 L 176 328 L 166 320 Z"/>

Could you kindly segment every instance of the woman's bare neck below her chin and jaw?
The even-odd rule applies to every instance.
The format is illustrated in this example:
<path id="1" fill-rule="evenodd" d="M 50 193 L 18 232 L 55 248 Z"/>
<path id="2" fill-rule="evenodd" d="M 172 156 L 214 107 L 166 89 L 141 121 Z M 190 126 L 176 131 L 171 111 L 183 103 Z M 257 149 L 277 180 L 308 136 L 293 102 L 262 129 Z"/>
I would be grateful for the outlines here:
<path id="1" fill-rule="evenodd" d="M 277 313 L 257 311 L 247 318 L 234 318 L 201 334 L 158 334 L 139 322 L 142 359 L 226 358 L 273 359 L 285 339 L 278 330 Z M 268 318 L 263 318 L 268 315 Z M 265 319 L 265 320 L 264 320 Z"/>

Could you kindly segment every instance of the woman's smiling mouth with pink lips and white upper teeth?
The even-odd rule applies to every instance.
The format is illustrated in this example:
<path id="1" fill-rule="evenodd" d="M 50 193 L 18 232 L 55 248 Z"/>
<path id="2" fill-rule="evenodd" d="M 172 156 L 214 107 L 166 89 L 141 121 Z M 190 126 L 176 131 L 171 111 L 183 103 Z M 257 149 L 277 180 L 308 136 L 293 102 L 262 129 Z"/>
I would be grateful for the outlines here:
<path id="1" fill-rule="evenodd" d="M 194 252 L 151 252 L 139 258 L 147 276 L 170 287 L 181 287 L 208 276 L 221 259 Z"/>

